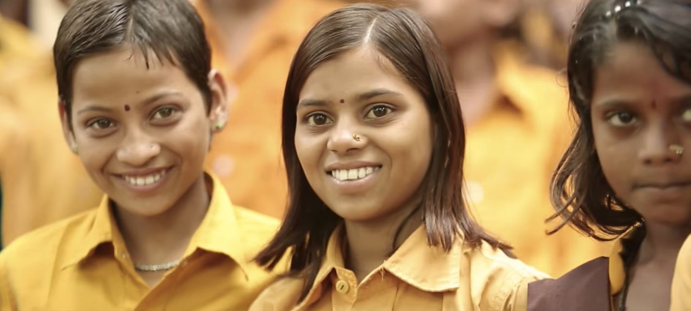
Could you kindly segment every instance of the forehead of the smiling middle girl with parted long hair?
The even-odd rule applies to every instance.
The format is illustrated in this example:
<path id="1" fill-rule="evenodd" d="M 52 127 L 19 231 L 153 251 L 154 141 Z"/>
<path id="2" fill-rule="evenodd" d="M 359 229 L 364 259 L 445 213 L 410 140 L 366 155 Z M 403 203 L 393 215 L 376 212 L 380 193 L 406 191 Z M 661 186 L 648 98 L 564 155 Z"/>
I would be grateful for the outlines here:
<path id="1" fill-rule="evenodd" d="M 300 99 L 350 98 L 375 88 L 417 93 L 386 57 L 371 48 L 356 48 L 317 66 L 305 80 Z"/>

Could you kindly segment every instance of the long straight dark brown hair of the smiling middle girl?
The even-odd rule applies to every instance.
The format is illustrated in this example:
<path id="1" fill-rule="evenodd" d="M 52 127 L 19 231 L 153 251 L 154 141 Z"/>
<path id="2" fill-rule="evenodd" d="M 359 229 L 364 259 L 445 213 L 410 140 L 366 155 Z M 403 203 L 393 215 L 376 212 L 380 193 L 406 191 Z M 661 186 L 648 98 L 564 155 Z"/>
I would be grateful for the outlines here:
<path id="1" fill-rule="evenodd" d="M 433 120 L 433 156 L 419 193 L 429 245 L 451 249 L 458 236 L 473 247 L 508 247 L 475 223 L 462 196 L 465 133 L 444 51 L 427 24 L 406 8 L 355 4 L 332 12 L 310 30 L 290 67 L 283 97 L 283 159 L 290 202 L 276 236 L 256 261 L 273 268 L 290 250 L 290 273 L 304 273 L 310 290 L 333 230 L 343 219 L 314 193 L 295 151 L 296 106 L 305 79 L 323 62 L 359 46 L 386 57 L 422 94 Z"/>

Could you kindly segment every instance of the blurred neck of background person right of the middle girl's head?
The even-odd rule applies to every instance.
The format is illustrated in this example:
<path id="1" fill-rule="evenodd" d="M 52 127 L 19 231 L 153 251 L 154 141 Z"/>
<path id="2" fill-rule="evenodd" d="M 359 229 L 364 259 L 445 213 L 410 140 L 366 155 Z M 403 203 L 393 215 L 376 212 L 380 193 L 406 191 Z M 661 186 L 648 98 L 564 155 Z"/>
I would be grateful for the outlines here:
<path id="1" fill-rule="evenodd" d="M 480 120 L 495 102 L 498 91 L 495 85 L 494 41 L 488 33 L 446 47 L 466 125 Z"/>

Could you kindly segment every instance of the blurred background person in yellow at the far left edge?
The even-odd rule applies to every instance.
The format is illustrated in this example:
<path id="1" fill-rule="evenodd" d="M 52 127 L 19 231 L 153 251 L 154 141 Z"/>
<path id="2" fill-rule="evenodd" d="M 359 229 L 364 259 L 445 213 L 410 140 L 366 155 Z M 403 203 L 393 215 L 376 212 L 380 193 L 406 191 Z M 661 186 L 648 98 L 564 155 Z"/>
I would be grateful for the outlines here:
<path id="1" fill-rule="evenodd" d="M 66 8 L 58 0 L 41 4 L 48 6 L 48 2 Z M 6 0 L 2 8 L 28 8 L 30 3 Z M 62 14 L 57 13 L 58 22 Z M 31 229 L 93 207 L 102 196 L 55 131 L 60 120 L 49 46 L 37 39 L 38 32 L 29 32 L 21 23 L 10 21 L 10 16 L 26 21 L 17 14 L 0 21 L 0 102 L 4 102 L 0 112 L 8 116 L 3 117 L 0 137 L 3 245 Z M 57 24 L 48 32 L 55 38 Z"/>

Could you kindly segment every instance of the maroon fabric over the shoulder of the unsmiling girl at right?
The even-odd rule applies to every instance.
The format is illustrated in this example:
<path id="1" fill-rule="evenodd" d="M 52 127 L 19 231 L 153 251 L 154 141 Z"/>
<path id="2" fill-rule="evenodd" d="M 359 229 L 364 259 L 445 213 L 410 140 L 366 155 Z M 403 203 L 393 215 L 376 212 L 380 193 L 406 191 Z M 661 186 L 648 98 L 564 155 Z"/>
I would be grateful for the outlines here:
<path id="1" fill-rule="evenodd" d="M 528 311 L 610 311 L 609 259 L 595 258 L 559 279 L 528 285 Z"/>

